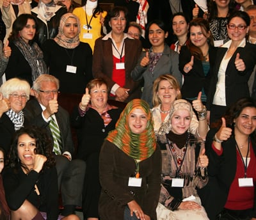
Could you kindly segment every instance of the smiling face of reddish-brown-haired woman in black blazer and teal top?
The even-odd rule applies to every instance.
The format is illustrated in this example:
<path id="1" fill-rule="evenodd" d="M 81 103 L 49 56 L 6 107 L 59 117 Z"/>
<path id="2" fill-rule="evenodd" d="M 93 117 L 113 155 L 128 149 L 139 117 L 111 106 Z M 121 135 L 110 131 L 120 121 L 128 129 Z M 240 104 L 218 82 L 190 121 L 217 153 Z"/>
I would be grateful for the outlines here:
<path id="1" fill-rule="evenodd" d="M 204 47 L 209 36 L 210 33 L 204 33 L 200 26 L 190 27 L 190 40 L 196 47 Z"/>

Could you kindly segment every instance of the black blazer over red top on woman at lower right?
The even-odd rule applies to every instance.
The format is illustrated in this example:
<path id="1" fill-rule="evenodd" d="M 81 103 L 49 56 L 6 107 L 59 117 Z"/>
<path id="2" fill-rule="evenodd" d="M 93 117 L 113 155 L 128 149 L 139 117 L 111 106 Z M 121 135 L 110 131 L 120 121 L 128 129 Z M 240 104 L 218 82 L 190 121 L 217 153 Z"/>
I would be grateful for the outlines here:
<path id="1" fill-rule="evenodd" d="M 199 191 L 202 205 L 211 220 L 215 220 L 216 215 L 225 206 L 230 185 L 236 176 L 237 167 L 236 140 L 234 136 L 227 141 L 223 141 L 223 153 L 221 156 L 218 156 L 212 149 L 212 138 L 217 131 L 216 129 L 209 130 L 206 137 L 205 150 L 209 157 L 209 182 L 204 189 Z M 253 141 L 253 138 L 251 140 L 253 152 L 256 153 L 256 142 L 255 140 Z M 252 216 L 256 217 L 256 190 Z"/>

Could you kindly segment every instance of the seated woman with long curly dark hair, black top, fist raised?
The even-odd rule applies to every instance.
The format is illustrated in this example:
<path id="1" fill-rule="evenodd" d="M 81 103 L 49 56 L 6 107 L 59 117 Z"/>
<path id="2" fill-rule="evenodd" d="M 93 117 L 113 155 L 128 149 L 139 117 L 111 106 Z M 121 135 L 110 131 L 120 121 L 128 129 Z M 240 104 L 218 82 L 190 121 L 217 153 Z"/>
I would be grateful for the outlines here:
<path id="1" fill-rule="evenodd" d="M 26 128 L 15 134 L 3 172 L 11 219 L 58 218 L 58 183 L 54 164 L 51 140 L 42 130 Z M 73 215 L 60 219 L 79 218 Z"/>

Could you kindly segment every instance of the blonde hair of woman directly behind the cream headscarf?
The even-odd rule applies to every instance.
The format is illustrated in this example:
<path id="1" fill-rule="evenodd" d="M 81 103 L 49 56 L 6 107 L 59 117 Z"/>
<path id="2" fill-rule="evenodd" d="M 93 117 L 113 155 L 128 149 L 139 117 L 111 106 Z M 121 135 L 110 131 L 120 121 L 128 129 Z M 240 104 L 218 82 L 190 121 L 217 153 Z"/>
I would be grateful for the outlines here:
<path id="1" fill-rule="evenodd" d="M 155 81 L 154 81 L 154 84 L 153 84 L 153 106 L 156 107 L 158 106 L 159 104 L 161 104 L 161 100 L 160 98 L 158 97 L 157 95 L 157 91 L 159 89 L 159 83 L 161 81 L 168 81 L 172 86 L 173 88 L 178 92 L 177 94 L 177 97 L 176 99 L 180 99 L 181 98 L 181 94 L 180 94 L 180 86 L 179 86 L 179 83 L 177 81 L 177 79 L 173 76 L 173 75 L 170 75 L 170 74 L 164 74 L 164 75 L 160 75 Z"/>

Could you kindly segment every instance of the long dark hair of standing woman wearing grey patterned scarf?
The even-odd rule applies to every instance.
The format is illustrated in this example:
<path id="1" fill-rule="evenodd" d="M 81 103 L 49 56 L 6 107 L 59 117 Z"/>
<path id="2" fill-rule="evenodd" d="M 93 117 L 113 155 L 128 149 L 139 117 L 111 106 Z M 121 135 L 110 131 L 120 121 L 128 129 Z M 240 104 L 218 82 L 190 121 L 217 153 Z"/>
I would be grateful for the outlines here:
<path id="1" fill-rule="evenodd" d="M 19 15 L 19 17 L 17 17 L 17 19 L 13 22 L 12 33 L 9 36 L 8 40 L 15 41 L 20 38 L 19 31 L 21 31 L 26 26 L 26 24 L 28 23 L 28 19 L 32 19 L 35 21 L 36 34 L 37 34 L 38 25 L 37 25 L 36 18 L 31 14 L 24 13 L 24 14 Z M 34 39 L 36 38 L 36 34 L 35 34 Z M 34 39 L 31 40 L 29 43 L 33 42 Z"/>

